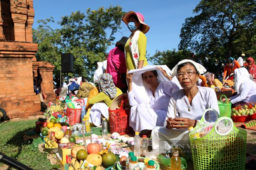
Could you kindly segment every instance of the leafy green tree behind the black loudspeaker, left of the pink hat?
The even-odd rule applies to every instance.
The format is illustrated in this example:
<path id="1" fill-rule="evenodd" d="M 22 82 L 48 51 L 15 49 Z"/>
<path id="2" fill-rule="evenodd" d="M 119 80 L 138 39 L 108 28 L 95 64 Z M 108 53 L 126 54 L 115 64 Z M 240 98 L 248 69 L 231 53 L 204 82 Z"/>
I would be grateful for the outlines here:
<path id="1" fill-rule="evenodd" d="M 122 7 L 87 9 L 86 13 L 76 11 L 62 17 L 61 28 L 53 30 L 48 22 L 40 20 L 33 30 L 33 42 L 38 43 L 38 61 L 48 61 L 56 66 L 54 75 L 60 75 L 60 54 L 70 52 L 74 56 L 74 76 L 90 79 L 96 70 L 96 63 L 105 60 L 105 51 L 114 41 L 124 15 Z M 54 48 L 54 50 L 53 50 Z M 49 51 L 54 51 L 50 53 Z M 56 62 L 53 62 L 56 61 Z"/>

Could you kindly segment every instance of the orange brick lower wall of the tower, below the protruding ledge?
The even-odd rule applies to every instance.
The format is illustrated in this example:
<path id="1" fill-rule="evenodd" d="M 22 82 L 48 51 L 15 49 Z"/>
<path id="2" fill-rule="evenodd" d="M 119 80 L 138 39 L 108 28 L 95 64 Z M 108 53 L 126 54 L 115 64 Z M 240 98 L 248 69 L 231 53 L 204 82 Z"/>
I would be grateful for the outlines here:
<path id="1" fill-rule="evenodd" d="M 9 118 L 40 113 L 33 90 L 31 58 L 0 58 L 0 107 Z"/>

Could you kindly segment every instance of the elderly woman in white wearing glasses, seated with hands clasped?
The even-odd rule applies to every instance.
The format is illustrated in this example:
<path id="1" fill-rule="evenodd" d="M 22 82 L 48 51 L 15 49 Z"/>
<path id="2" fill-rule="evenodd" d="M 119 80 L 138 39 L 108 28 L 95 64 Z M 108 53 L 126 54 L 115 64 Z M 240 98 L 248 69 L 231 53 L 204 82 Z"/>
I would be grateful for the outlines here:
<path id="1" fill-rule="evenodd" d="M 203 111 L 208 108 L 219 113 L 214 90 L 196 85 L 199 74 L 206 71 L 205 68 L 202 71 L 200 67 L 203 66 L 192 60 L 183 60 L 174 68 L 174 74 L 183 89 L 172 94 L 164 127 L 158 126 L 152 130 L 153 149 L 160 147 L 161 150 L 163 147 L 169 150 L 172 146 L 178 146 L 189 150 L 188 128 L 195 127 L 202 118 Z"/>

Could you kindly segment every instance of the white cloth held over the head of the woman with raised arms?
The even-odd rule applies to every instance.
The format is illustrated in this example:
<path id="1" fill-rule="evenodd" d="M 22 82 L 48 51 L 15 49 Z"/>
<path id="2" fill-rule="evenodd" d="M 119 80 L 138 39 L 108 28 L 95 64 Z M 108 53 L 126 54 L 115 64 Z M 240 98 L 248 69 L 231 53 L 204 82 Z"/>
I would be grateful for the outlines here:
<path id="1" fill-rule="evenodd" d="M 157 69 L 156 67 L 161 67 L 163 70 L 166 71 L 166 73 L 170 76 L 171 70 L 167 67 L 167 65 L 146 65 L 143 68 L 136 69 L 136 70 L 130 70 L 128 73 L 133 73 L 132 75 L 132 92 L 135 95 L 136 101 L 138 104 L 149 104 L 149 87 L 145 85 L 143 79 L 142 79 L 142 73 L 147 71 L 156 70 L 158 74 L 158 81 L 169 81 L 168 78 L 166 78 L 163 73 Z M 180 84 L 178 83 L 177 79 L 173 79 L 174 83 L 176 83 L 178 86 Z"/>

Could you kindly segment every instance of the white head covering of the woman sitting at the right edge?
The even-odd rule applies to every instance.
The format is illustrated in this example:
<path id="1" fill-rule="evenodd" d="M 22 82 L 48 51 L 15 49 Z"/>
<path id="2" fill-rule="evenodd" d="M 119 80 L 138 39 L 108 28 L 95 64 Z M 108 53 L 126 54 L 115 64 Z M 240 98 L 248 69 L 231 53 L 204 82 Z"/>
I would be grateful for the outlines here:
<path id="1" fill-rule="evenodd" d="M 234 74 L 236 76 L 236 87 L 237 87 L 237 93 L 240 92 L 240 89 L 242 89 L 242 83 L 244 81 L 251 81 L 249 72 L 246 70 L 246 68 L 238 68 L 234 70 Z"/>

